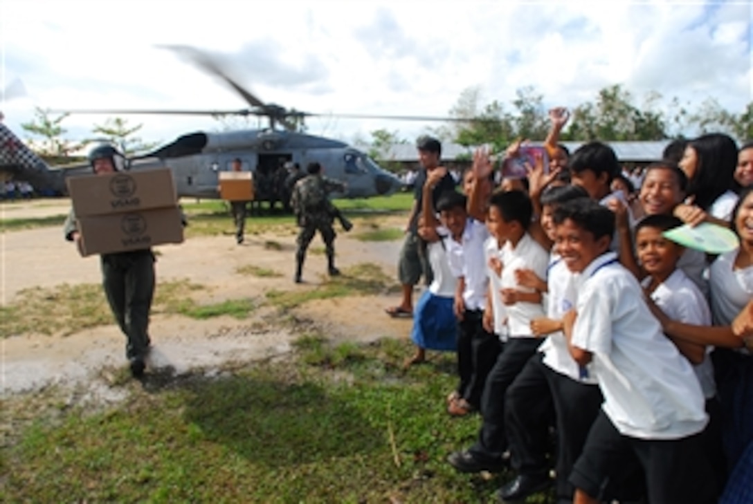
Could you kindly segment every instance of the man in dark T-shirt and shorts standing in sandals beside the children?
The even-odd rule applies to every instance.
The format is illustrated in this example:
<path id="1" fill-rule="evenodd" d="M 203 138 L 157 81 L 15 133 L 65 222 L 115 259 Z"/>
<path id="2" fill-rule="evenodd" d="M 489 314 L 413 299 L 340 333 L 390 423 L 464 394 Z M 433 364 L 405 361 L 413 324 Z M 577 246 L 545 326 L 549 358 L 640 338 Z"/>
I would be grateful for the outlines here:
<path id="1" fill-rule="evenodd" d="M 431 284 L 431 266 L 425 254 L 421 254 L 422 238 L 418 234 L 418 219 L 422 208 L 423 187 L 429 173 L 440 168 L 442 144 L 436 138 L 422 136 L 416 141 L 419 151 L 421 170 L 413 181 L 413 208 L 405 228 L 405 241 L 398 260 L 398 279 L 401 284 L 402 299 L 400 304 L 386 308 L 390 317 L 413 317 L 413 287 L 421 277 L 426 285 Z M 455 190 L 455 181 L 449 172 L 439 181 L 431 192 L 432 208 L 437 208 L 437 200 L 442 193 Z"/>

